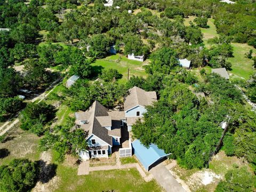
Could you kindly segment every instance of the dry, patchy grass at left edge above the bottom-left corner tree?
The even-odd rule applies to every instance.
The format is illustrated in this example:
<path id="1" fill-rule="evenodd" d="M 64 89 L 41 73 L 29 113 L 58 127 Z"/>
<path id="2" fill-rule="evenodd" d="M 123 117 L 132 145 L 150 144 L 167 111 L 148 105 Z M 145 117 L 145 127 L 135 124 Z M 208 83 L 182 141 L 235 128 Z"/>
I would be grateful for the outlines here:
<path id="1" fill-rule="evenodd" d="M 38 150 L 39 137 L 33 133 L 28 133 L 18 129 L 10 135 L 10 139 L 0 143 L 0 149 L 7 149 L 9 155 L 0 158 L 0 165 L 8 164 L 14 158 L 28 158 L 31 161 L 39 160 Z"/>

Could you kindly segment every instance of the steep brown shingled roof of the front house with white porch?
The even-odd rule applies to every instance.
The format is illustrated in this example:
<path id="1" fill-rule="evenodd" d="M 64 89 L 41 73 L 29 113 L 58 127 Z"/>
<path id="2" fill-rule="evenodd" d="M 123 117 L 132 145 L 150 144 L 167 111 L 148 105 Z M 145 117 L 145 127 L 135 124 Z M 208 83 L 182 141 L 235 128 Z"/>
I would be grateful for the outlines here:
<path id="1" fill-rule="evenodd" d="M 76 119 L 78 121 L 88 120 L 88 123 L 82 124 L 81 128 L 88 133 L 89 137 L 94 134 L 112 146 L 112 137 L 108 135 L 108 130 L 103 127 L 111 126 L 111 117 L 108 115 L 108 110 L 98 101 L 94 101 L 85 112 L 76 112 Z"/>

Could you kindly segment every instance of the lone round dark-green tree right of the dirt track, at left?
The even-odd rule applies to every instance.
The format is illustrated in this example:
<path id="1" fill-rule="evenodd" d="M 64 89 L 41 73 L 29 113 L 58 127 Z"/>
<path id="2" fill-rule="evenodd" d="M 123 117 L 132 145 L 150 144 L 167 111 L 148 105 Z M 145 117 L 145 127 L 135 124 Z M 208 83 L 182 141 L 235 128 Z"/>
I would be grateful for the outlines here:
<path id="1" fill-rule="evenodd" d="M 54 117 L 53 106 L 46 105 L 44 102 L 28 103 L 26 108 L 20 114 L 20 128 L 29 130 L 38 136 L 46 130 L 44 126 Z"/>

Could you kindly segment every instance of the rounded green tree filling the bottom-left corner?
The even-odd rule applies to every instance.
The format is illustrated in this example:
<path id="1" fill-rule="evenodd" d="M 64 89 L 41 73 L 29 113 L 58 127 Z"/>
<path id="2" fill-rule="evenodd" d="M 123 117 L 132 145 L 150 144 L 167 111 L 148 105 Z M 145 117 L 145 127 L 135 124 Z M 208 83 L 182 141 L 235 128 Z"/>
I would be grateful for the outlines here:
<path id="1" fill-rule="evenodd" d="M 36 184 L 38 165 L 28 159 L 13 159 L 9 165 L 0 166 L 0 190 L 29 191 Z"/>

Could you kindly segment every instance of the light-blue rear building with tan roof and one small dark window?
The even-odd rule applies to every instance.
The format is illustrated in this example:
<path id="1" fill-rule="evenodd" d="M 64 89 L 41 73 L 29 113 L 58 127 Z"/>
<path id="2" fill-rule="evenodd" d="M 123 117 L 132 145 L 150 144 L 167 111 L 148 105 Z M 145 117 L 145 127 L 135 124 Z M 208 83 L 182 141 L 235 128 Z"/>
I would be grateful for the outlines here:
<path id="1" fill-rule="evenodd" d="M 124 113 L 127 130 L 131 131 L 132 125 L 147 111 L 146 106 L 157 101 L 157 96 L 155 91 L 145 91 L 137 86 L 132 87 L 129 93 L 124 100 Z"/>

